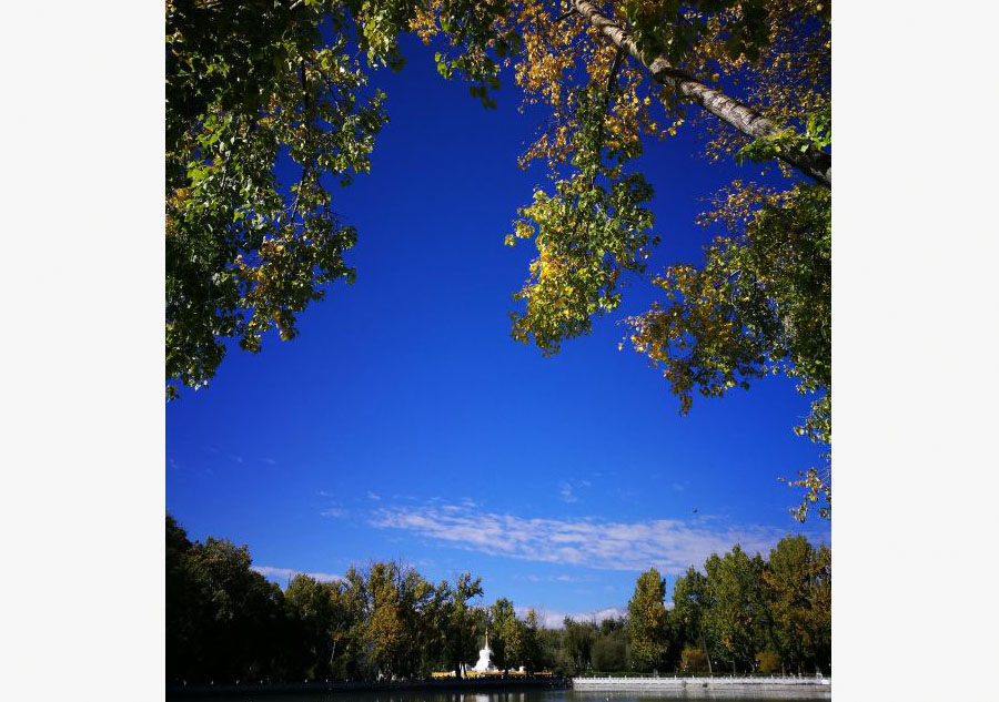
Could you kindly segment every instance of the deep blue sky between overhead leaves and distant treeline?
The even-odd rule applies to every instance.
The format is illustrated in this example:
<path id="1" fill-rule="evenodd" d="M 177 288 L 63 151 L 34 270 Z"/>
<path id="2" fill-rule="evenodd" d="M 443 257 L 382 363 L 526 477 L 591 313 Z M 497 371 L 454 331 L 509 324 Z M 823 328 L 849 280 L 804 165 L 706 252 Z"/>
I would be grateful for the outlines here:
<path id="1" fill-rule="evenodd" d="M 516 167 L 541 118 L 517 112 L 509 80 L 484 110 L 436 77 L 433 50 L 406 48 L 406 68 L 372 82 L 392 119 L 372 173 L 333 191 L 359 230 L 356 284 L 301 315 L 295 340 L 230 352 L 210 388 L 167 408 L 167 508 L 191 538 L 248 543 L 282 583 L 391 558 L 432 580 L 472 570 L 486 602 L 552 620 L 625 607 L 653 564 L 672 591 L 737 540 L 828 542 L 829 522 L 795 522 L 797 492 L 777 480 L 817 460 L 791 433 L 808 399 L 771 378 L 680 417 L 660 373 L 617 347 L 647 283 L 554 358 L 509 337 L 534 250 L 503 237 L 546 184 Z M 695 134 L 642 160 L 662 236 L 650 272 L 699 260 L 694 217 L 736 173 Z"/>

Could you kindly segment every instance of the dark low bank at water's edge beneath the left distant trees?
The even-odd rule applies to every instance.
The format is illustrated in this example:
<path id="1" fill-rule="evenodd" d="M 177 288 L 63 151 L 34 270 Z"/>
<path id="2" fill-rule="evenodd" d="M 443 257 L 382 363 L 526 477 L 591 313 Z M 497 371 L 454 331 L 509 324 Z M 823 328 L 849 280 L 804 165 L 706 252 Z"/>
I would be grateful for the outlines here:
<path id="1" fill-rule="evenodd" d="M 167 685 L 168 700 L 190 698 L 232 696 L 241 694 L 324 694 L 335 692 L 475 692 L 527 689 L 565 689 L 567 678 L 496 679 L 473 678 L 457 680 L 412 680 L 402 682 L 250 682 L 228 684 Z"/>

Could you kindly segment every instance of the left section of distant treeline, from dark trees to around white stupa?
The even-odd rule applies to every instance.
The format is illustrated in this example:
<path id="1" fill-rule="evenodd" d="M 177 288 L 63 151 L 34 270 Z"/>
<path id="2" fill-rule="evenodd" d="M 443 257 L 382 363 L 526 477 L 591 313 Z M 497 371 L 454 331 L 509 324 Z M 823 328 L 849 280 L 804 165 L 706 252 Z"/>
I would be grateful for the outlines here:
<path id="1" fill-rule="evenodd" d="M 167 516 L 167 676 L 170 681 L 377 680 L 458 671 L 478 658 L 486 627 L 501 669 L 543 665 L 534 612 L 476 607 L 471 573 L 432 583 L 395 562 L 344 579 L 305 574 L 282 590 L 251 570 L 248 547 L 191 542 Z"/>

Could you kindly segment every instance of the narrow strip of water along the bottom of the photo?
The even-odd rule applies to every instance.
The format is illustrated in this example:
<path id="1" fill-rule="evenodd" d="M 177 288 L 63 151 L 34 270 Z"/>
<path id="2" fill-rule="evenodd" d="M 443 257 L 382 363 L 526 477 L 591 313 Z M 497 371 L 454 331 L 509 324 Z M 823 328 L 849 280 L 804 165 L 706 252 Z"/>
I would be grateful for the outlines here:
<path id="1" fill-rule="evenodd" d="M 212 696 L 223 702 L 660 702 L 662 700 L 757 700 L 787 702 L 788 700 L 831 700 L 829 688 L 794 688 L 788 690 L 739 691 L 705 690 L 687 686 L 683 690 L 527 690 L 516 692 L 299 692 L 262 694 L 246 690 L 225 696 Z"/>

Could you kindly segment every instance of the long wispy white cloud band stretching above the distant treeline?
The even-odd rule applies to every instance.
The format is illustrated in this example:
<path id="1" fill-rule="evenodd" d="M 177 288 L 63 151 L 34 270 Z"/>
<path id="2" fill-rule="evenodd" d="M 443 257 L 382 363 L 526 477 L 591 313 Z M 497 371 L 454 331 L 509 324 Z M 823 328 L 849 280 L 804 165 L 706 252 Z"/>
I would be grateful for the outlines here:
<path id="1" fill-rule="evenodd" d="M 724 553 L 735 543 L 750 553 L 766 553 L 786 533 L 704 516 L 637 522 L 525 519 L 441 503 L 380 508 L 369 523 L 491 556 L 608 570 L 654 566 L 668 574 L 700 567 L 712 552 Z"/>

